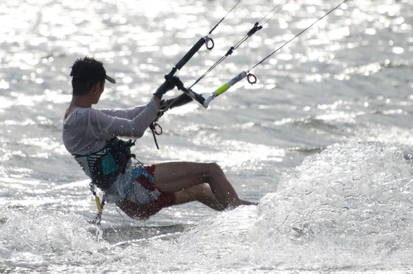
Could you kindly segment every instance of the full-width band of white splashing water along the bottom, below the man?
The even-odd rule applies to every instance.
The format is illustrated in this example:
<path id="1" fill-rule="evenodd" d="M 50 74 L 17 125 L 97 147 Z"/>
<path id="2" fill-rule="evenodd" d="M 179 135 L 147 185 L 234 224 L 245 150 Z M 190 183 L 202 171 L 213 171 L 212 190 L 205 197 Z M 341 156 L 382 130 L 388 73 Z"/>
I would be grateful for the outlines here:
<path id="1" fill-rule="evenodd" d="M 1 268 L 66 273 L 96 267 L 119 273 L 408 269 L 410 177 L 410 160 L 397 146 L 335 144 L 284 174 L 278 192 L 256 207 L 214 214 L 183 232 L 115 244 L 76 214 L 6 209 Z M 112 237 L 123 232 L 113 229 Z"/>

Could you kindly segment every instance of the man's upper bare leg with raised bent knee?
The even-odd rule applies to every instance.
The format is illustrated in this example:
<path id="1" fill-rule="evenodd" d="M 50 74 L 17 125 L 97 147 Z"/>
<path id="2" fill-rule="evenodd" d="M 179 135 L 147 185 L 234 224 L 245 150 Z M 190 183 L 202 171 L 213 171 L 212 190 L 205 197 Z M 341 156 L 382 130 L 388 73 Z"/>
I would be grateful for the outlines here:
<path id="1" fill-rule="evenodd" d="M 156 165 L 155 185 L 163 192 L 180 192 L 195 185 L 208 183 L 212 193 L 225 209 L 240 205 L 257 205 L 237 196 L 216 163 L 170 162 Z"/>

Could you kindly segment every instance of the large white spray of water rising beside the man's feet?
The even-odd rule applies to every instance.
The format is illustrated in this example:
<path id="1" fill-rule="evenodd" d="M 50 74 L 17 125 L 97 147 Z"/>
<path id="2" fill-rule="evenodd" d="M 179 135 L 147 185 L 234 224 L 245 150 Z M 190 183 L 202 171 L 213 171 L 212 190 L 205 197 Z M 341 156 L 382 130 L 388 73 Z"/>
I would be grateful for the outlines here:
<path id="1" fill-rule="evenodd" d="M 182 236 L 180 248 L 198 263 L 207 257 L 209 269 L 409 266 L 410 176 L 410 163 L 396 146 L 330 146 L 284 175 L 279 192 L 266 195 L 258 207 L 204 220 Z"/>

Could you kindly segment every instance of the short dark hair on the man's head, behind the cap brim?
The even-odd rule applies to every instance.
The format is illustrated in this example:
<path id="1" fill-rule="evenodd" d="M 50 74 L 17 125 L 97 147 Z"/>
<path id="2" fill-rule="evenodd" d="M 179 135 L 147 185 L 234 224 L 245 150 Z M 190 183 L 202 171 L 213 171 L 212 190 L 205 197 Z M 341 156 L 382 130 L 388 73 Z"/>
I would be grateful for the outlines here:
<path id="1" fill-rule="evenodd" d="M 74 61 L 70 76 L 73 95 L 86 95 L 97 82 L 105 82 L 106 70 L 103 62 L 85 57 Z"/>

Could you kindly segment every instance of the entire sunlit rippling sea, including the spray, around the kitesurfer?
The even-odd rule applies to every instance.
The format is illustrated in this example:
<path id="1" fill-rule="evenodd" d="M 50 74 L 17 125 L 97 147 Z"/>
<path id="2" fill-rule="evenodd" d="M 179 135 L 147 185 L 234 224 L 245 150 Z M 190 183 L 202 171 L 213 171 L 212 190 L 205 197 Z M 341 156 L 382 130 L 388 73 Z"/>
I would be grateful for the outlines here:
<path id="1" fill-rule="evenodd" d="M 194 87 L 209 95 L 334 7 L 291 1 Z M 216 98 L 162 117 L 145 163 L 216 161 L 240 196 L 146 222 L 107 205 L 61 141 L 76 58 L 118 84 L 98 106 L 145 104 L 235 1 L 3 1 L 0 16 L 0 272 L 412 273 L 413 1 L 348 1 Z M 178 76 L 192 84 L 276 3 L 242 2 Z M 169 93 L 168 95 L 176 95 Z"/>

